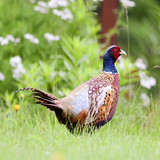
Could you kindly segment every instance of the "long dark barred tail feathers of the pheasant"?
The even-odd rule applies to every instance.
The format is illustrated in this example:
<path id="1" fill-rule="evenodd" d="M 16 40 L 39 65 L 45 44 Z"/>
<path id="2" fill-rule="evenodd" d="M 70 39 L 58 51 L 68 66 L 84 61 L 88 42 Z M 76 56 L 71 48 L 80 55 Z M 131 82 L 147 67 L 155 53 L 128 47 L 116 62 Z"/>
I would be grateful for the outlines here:
<path id="1" fill-rule="evenodd" d="M 58 111 L 58 110 L 62 111 L 62 108 L 60 108 L 58 106 L 58 103 L 55 102 L 56 100 L 58 100 L 58 98 L 54 97 L 53 95 L 36 88 L 31 88 L 31 87 L 22 88 L 16 92 L 25 91 L 25 90 L 32 91 L 33 98 L 37 100 L 35 102 L 36 104 L 41 104 L 43 106 L 46 106 L 51 111 Z"/>

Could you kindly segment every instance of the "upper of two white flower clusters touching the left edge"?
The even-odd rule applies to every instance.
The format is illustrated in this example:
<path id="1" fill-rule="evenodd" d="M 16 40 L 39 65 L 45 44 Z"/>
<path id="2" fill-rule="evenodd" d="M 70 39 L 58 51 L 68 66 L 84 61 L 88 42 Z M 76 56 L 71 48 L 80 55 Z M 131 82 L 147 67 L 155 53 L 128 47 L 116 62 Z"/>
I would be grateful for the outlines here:
<path id="1" fill-rule="evenodd" d="M 6 37 L 0 37 L 0 44 L 2 46 L 7 45 L 9 42 L 17 44 L 20 42 L 20 38 L 14 38 L 12 35 L 6 35 Z"/>

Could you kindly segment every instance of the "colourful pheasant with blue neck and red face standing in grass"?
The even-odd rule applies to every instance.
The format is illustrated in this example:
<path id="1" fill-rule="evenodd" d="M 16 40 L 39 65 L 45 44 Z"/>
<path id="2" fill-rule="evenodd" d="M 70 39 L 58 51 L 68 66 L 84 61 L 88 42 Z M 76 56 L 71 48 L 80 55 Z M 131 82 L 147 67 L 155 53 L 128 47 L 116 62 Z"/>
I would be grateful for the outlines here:
<path id="1" fill-rule="evenodd" d="M 58 121 L 70 131 L 82 130 L 84 126 L 88 130 L 91 126 L 99 129 L 112 119 L 117 107 L 120 80 L 114 63 L 122 54 L 126 55 L 119 46 L 109 47 L 103 57 L 103 72 L 62 99 L 30 87 L 17 92 L 31 90 L 35 103 L 55 111 Z"/>

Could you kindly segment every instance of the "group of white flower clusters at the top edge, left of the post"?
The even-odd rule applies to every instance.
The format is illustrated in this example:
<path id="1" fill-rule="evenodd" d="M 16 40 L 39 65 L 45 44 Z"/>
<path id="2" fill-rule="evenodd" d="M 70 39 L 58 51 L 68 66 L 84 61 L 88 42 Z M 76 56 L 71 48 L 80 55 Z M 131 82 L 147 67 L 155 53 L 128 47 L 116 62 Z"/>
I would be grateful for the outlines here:
<path id="1" fill-rule="evenodd" d="M 72 0 L 73 1 L 73 0 Z M 73 14 L 68 8 L 58 9 L 59 7 L 67 7 L 68 0 L 50 0 L 47 2 L 38 1 L 37 6 L 34 7 L 34 11 L 40 13 L 47 13 L 50 9 L 53 9 L 53 14 L 61 17 L 62 20 L 73 19 Z"/>

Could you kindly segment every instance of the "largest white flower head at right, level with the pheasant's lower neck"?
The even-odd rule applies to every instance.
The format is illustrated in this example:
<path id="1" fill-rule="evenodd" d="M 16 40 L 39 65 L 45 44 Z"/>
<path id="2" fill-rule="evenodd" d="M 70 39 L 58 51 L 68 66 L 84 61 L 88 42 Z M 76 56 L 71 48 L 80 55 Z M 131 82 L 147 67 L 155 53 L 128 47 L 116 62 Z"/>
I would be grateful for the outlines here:
<path id="1" fill-rule="evenodd" d="M 140 73 L 139 77 L 140 77 L 141 86 L 147 89 L 151 89 L 152 86 L 156 85 L 156 79 L 153 77 L 147 76 L 145 73 Z"/>

